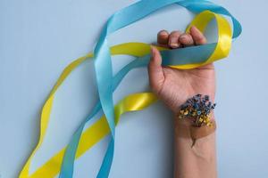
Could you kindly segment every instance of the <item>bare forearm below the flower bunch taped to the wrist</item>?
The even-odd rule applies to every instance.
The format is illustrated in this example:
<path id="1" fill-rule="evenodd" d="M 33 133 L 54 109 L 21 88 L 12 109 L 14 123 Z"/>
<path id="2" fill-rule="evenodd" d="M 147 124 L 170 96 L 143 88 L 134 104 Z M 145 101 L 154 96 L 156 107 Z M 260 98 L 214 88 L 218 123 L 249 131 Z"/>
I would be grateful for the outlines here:
<path id="1" fill-rule="evenodd" d="M 197 139 L 192 147 L 190 125 L 186 120 L 175 118 L 175 178 L 215 178 L 215 133 Z"/>

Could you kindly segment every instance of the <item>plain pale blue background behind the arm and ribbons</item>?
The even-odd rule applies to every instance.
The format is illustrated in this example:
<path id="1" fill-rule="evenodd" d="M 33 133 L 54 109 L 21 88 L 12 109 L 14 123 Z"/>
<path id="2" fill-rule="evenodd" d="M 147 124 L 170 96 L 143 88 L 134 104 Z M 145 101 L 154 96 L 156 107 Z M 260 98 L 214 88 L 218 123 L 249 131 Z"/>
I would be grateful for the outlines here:
<path id="1" fill-rule="evenodd" d="M 0 175 L 17 177 L 38 142 L 39 114 L 63 68 L 94 49 L 105 20 L 133 0 L 0 0 Z M 219 177 L 268 176 L 267 1 L 217 0 L 238 18 L 243 33 L 230 56 L 216 62 Z M 184 30 L 193 15 L 178 5 L 155 12 L 110 36 L 110 44 L 153 43 L 162 28 Z M 213 40 L 215 30 L 208 38 Z M 113 58 L 114 72 L 131 61 Z M 61 150 L 96 102 L 92 61 L 60 88 L 43 146 L 30 172 Z M 127 87 L 126 87 L 127 86 Z M 147 69 L 135 69 L 114 93 L 148 91 Z M 95 118 L 96 120 L 96 118 Z M 93 120 L 93 122 L 95 121 Z M 92 123 L 90 123 L 92 124 Z M 89 125 L 90 125 L 89 124 Z M 172 177 L 172 113 L 161 102 L 128 113 L 116 128 L 110 177 Z M 75 163 L 76 178 L 95 177 L 107 138 Z"/>

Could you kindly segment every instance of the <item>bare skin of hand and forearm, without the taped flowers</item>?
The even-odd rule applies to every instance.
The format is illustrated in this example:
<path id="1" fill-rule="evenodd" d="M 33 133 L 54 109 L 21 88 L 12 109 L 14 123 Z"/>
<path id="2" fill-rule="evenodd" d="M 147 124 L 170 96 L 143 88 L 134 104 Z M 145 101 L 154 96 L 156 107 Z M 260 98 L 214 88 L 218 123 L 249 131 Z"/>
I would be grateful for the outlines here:
<path id="1" fill-rule="evenodd" d="M 157 34 L 157 44 L 172 49 L 202 45 L 205 36 L 196 28 L 191 27 L 189 34 L 180 31 L 161 30 Z M 208 64 L 197 69 L 172 69 L 163 67 L 159 51 L 152 46 L 152 58 L 148 64 L 149 82 L 153 92 L 176 116 L 180 105 L 188 98 L 207 94 L 214 101 L 215 71 L 214 65 Z M 211 119 L 214 119 L 212 114 Z M 192 147 L 190 125 L 186 121 L 174 119 L 174 177 L 175 178 L 215 178 L 216 154 L 215 134 L 197 139 Z"/>

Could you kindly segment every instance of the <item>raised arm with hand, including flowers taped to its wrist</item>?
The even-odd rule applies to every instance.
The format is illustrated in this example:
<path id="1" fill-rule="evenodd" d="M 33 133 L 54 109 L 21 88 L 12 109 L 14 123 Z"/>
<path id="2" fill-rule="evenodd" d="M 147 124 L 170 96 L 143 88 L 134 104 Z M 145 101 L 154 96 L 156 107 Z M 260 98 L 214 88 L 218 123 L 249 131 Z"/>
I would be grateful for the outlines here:
<path id="1" fill-rule="evenodd" d="M 192 26 L 185 34 L 162 30 L 157 35 L 157 43 L 174 49 L 205 44 L 206 39 L 198 28 Z M 161 53 L 152 47 L 151 54 L 148 74 L 153 92 L 174 113 L 179 111 L 177 116 L 180 121 L 189 121 L 183 126 L 175 118 L 175 178 L 215 178 L 216 125 L 209 119 L 215 107 L 214 65 L 210 63 L 197 69 L 183 70 L 163 68 Z M 202 94 L 205 94 L 204 97 Z M 194 144 L 193 139 L 196 140 Z"/>

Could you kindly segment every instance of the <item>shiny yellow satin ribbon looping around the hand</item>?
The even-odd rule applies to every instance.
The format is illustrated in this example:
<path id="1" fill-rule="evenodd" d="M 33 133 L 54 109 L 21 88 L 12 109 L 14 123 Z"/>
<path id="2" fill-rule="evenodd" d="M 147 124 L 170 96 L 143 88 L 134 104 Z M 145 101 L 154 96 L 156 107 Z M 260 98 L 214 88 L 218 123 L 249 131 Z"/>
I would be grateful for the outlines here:
<path id="1" fill-rule="evenodd" d="M 172 68 L 176 69 L 193 69 L 200 66 L 203 66 L 207 63 L 211 63 L 213 61 L 217 61 L 222 59 L 228 55 L 230 52 L 230 44 L 231 44 L 231 28 L 228 20 L 225 20 L 221 15 L 216 14 L 214 12 L 201 12 L 199 13 L 196 18 L 189 24 L 189 27 L 196 26 L 202 32 L 205 31 L 206 26 L 210 22 L 210 20 L 215 19 L 217 22 L 218 27 L 218 44 L 214 50 L 214 53 L 209 57 L 209 59 L 203 63 L 198 64 L 187 64 L 187 65 L 180 65 L 180 66 L 171 66 Z M 186 32 L 188 32 L 188 29 Z M 167 50 L 163 47 L 157 47 L 159 50 Z M 143 43 L 127 43 L 127 44 L 118 44 L 111 47 L 112 55 L 117 54 L 126 54 L 126 55 L 133 55 L 136 57 L 144 56 L 150 53 L 150 44 L 143 44 Z M 79 59 L 72 61 L 64 70 L 62 75 L 57 80 L 56 84 L 54 85 L 53 90 L 48 96 L 47 101 L 42 109 L 41 113 L 41 121 L 40 121 L 40 136 L 38 145 L 31 153 L 28 161 L 26 162 L 25 166 L 23 167 L 20 178 L 40 178 L 40 177 L 54 177 L 56 174 L 59 173 L 63 154 L 66 148 L 63 148 L 58 153 L 56 153 L 52 158 L 50 158 L 43 166 L 40 166 L 38 170 L 36 170 L 33 174 L 29 175 L 29 166 L 31 163 L 31 159 L 34 157 L 36 151 L 41 146 L 44 137 L 46 135 L 46 128 L 49 122 L 49 117 L 51 113 L 51 109 L 53 107 L 54 101 L 54 94 L 57 91 L 58 87 L 63 84 L 63 81 L 66 77 L 69 76 L 71 71 L 77 68 L 83 61 L 87 60 L 88 58 L 92 58 L 93 54 L 88 53 L 86 56 L 80 57 Z M 178 59 L 180 60 L 180 59 Z M 116 124 L 119 122 L 119 118 L 121 114 L 128 112 L 128 111 L 136 111 L 147 108 L 147 106 L 151 105 L 156 101 L 155 94 L 153 93 L 134 93 L 130 94 L 129 96 L 125 97 L 121 100 L 115 107 L 115 119 Z M 109 126 L 105 121 L 105 116 L 98 119 L 93 125 L 88 127 L 80 138 L 80 143 L 78 146 L 78 150 L 76 153 L 76 158 L 80 158 L 87 150 L 89 150 L 92 146 L 96 144 L 96 142 L 101 141 L 107 134 L 109 134 Z"/>

